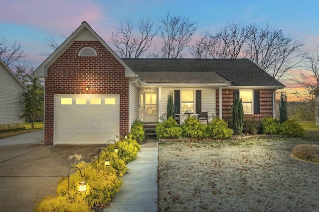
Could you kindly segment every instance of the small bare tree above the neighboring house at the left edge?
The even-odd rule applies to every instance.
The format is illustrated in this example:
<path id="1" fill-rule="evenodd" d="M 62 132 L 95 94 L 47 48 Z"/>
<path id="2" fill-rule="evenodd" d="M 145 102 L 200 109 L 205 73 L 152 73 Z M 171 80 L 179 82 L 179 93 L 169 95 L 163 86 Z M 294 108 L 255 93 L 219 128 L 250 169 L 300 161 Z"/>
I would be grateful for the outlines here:
<path id="1" fill-rule="evenodd" d="M 19 59 L 26 58 L 27 55 L 24 54 L 21 44 L 17 44 L 15 40 L 11 46 L 7 45 L 7 40 L 5 37 L 0 38 L 0 59 L 12 69 Z"/>

